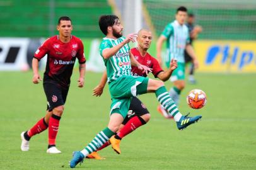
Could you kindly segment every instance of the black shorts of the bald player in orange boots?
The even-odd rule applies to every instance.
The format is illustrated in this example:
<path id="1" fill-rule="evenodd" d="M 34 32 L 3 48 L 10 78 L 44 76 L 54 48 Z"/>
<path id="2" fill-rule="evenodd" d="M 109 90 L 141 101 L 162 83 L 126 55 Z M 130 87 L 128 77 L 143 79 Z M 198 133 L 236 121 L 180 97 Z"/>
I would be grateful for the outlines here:
<path id="1" fill-rule="evenodd" d="M 122 124 L 125 125 L 134 116 L 142 116 L 147 113 L 149 113 L 149 111 L 146 106 L 138 98 L 132 97 L 129 111 Z"/>

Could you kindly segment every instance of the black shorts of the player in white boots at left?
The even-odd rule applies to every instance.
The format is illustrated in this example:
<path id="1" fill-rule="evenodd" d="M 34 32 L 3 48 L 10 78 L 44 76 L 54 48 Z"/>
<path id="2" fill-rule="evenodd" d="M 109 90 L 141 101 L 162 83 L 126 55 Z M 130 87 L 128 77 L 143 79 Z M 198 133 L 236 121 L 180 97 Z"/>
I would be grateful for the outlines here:
<path id="1" fill-rule="evenodd" d="M 68 88 L 62 88 L 62 86 L 57 83 L 44 82 L 44 92 L 47 98 L 47 110 L 52 111 L 55 107 L 64 105 L 68 91 Z"/>

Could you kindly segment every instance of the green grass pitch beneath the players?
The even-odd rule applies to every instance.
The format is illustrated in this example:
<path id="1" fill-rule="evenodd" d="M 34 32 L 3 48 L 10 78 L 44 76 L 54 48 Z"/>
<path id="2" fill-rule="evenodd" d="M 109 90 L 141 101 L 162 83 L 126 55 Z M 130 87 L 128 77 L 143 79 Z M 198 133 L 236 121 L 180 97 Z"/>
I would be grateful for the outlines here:
<path id="1" fill-rule="evenodd" d="M 74 71 L 57 136 L 62 154 L 49 155 L 47 131 L 30 140 L 28 152 L 20 150 L 20 133 L 45 115 L 42 82 L 32 84 L 32 72 L 0 72 L 0 169 L 69 168 L 73 150 L 83 149 L 108 123 L 108 88 L 100 98 L 92 96 L 100 77 L 100 73 L 88 72 L 80 89 L 78 71 Z M 86 159 L 77 168 L 256 169 L 256 75 L 198 73 L 196 78 L 198 83 L 187 84 L 182 92 L 179 108 L 183 114 L 202 115 L 199 123 L 177 130 L 173 120 L 156 111 L 154 94 L 144 94 L 139 98 L 151 112 L 151 120 L 122 140 L 122 154 L 107 147 L 99 152 L 105 160 Z M 166 86 L 169 89 L 171 83 Z M 201 110 L 186 104 L 191 89 L 207 94 L 207 104 Z"/>

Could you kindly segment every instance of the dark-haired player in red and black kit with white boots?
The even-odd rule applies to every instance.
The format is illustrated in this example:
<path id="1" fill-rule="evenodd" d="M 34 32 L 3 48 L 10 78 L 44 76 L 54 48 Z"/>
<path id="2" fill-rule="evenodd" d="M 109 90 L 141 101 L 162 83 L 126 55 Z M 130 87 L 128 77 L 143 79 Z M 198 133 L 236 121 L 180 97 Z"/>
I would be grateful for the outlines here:
<path id="1" fill-rule="evenodd" d="M 21 133 L 21 150 L 29 150 L 29 140 L 33 135 L 48 128 L 49 145 L 47 153 L 61 153 L 55 147 L 55 139 L 59 130 L 59 122 L 64 111 L 64 104 L 69 91 L 70 77 L 76 58 L 79 61 L 78 87 L 83 88 L 85 73 L 84 47 L 81 40 L 71 35 L 73 26 L 67 16 L 59 18 L 57 25 L 59 35 L 50 37 L 38 48 L 32 60 L 33 83 L 42 79 L 38 74 L 38 62 L 47 54 L 47 65 L 44 72 L 44 91 L 47 97 L 47 113 L 35 125 Z"/>

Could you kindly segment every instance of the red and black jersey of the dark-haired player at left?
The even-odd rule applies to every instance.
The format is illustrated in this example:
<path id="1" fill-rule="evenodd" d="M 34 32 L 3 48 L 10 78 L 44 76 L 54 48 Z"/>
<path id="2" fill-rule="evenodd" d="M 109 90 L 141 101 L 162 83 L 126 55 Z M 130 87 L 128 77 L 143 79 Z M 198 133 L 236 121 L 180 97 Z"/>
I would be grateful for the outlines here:
<path id="1" fill-rule="evenodd" d="M 42 59 L 47 54 L 47 64 L 44 73 L 44 82 L 56 83 L 68 88 L 74 63 L 85 62 L 84 47 L 81 40 L 71 36 L 68 43 L 59 40 L 59 36 L 50 37 L 35 52 L 35 59 Z"/>

